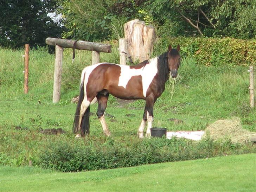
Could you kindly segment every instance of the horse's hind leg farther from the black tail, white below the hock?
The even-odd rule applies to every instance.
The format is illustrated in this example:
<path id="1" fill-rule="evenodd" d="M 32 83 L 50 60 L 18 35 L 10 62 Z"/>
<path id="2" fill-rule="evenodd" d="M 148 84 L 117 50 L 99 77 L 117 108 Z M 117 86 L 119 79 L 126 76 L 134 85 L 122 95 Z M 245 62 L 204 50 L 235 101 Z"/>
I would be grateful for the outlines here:
<path id="1" fill-rule="evenodd" d="M 99 92 L 98 95 L 96 96 L 98 100 L 97 116 L 101 122 L 102 129 L 106 136 L 110 136 L 107 123 L 105 122 L 105 119 L 104 119 L 104 112 L 107 108 L 108 96 L 109 96 L 109 93 L 107 92 L 107 90 L 103 90 Z"/>

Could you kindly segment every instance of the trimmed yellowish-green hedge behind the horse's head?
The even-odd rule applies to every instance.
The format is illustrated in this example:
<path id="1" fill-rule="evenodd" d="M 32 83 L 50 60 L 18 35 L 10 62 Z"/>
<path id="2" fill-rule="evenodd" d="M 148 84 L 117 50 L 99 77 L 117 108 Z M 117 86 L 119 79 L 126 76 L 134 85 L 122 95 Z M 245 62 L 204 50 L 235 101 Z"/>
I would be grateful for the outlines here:
<path id="1" fill-rule="evenodd" d="M 155 53 L 165 51 L 168 45 L 180 44 L 182 57 L 194 58 L 198 64 L 248 66 L 256 62 L 256 39 L 177 37 L 159 39 Z"/>

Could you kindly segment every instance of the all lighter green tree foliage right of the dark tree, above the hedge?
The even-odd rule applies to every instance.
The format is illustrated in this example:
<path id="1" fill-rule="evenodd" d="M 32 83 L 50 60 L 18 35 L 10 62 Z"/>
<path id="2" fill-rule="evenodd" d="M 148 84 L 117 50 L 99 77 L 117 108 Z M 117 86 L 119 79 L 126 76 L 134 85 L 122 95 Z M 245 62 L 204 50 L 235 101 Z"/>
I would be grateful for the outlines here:
<path id="1" fill-rule="evenodd" d="M 123 24 L 139 18 L 159 36 L 256 37 L 256 0 L 63 0 L 65 38 L 123 36 Z"/>

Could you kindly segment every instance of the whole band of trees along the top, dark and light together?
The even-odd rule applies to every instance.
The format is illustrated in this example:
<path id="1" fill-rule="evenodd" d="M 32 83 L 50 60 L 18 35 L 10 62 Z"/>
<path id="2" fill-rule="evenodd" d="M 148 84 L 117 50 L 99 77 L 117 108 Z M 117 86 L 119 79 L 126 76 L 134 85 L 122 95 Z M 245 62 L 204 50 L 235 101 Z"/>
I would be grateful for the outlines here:
<path id="1" fill-rule="evenodd" d="M 255 39 L 255 5 L 255 0 L 2 0 L 0 45 L 44 46 L 46 37 L 117 40 L 133 19 L 154 26 L 161 38 Z"/>

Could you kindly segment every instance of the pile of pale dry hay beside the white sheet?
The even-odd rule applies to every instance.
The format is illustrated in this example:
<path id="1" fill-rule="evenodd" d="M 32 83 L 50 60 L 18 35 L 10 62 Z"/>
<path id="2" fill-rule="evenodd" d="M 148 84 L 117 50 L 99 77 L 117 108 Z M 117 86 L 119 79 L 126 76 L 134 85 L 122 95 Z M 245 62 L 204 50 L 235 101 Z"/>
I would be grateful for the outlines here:
<path id="1" fill-rule="evenodd" d="M 213 140 L 231 139 L 234 143 L 250 142 L 251 137 L 255 137 L 255 132 L 249 132 L 242 128 L 238 118 L 232 120 L 218 120 L 205 129 L 206 135 L 210 135 Z"/>

